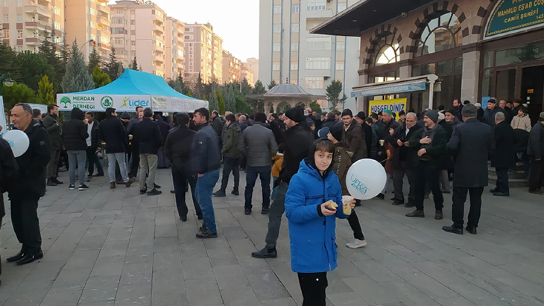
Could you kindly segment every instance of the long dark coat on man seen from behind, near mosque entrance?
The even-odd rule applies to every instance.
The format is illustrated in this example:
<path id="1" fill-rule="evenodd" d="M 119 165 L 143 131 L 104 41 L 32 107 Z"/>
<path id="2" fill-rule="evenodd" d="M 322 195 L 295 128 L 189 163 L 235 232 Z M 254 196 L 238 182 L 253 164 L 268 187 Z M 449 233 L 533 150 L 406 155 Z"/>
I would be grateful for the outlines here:
<path id="1" fill-rule="evenodd" d="M 495 151 L 491 127 L 476 118 L 470 118 L 453 130 L 448 142 L 453 153 L 453 186 L 462 188 L 485 187 L 488 183 L 487 161 Z"/>

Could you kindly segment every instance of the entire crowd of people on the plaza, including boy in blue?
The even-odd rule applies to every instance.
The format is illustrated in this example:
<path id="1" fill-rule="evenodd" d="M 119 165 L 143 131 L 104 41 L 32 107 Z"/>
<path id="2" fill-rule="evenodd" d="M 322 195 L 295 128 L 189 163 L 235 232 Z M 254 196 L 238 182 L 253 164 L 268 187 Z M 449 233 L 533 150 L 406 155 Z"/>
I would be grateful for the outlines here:
<path id="1" fill-rule="evenodd" d="M 509 196 L 508 173 L 516 167 L 527 171 L 529 192 L 542 194 L 544 112 L 531 126 L 527 108 L 517 101 L 501 100 L 497 105 L 496 99 L 490 99 L 484 110 L 479 103 L 456 99 L 449 110 L 443 106 L 419 114 L 384 110 L 368 117 L 363 111 L 354 116 L 350 109 L 317 114 L 294 107 L 268 116 L 230 112 L 220 116 L 200 108 L 165 118 L 138 107 L 134 117 L 122 113 L 120 118 L 108 108 L 98 123 L 94 113 L 75 108 L 70 120 L 61 124 L 58 113 L 54 104 L 48 105 L 45 116 L 28 104 L 16 104 L 11 121 L 28 135 L 29 148 L 14 158 L 7 142 L 0 140 L 0 191 L 9 193 L 12 224 L 22 245 L 7 260 L 20 265 L 43 257 L 38 200 L 46 185 L 63 184 L 58 179 L 63 152 L 70 190 L 76 189 L 76 180 L 77 188 L 84 191 L 89 189 L 85 182 L 104 176 L 98 154 L 108 160 L 110 189 L 128 188 L 139 177 L 141 195 L 161 194 L 155 182 L 157 168 L 170 167 L 178 216 L 188 220 L 190 190 L 196 217 L 202 220 L 196 237 L 202 239 L 218 236 L 212 197 L 227 196 L 231 173 L 231 193 L 238 196 L 240 171 L 246 172 L 245 215 L 252 214 L 259 178 L 261 214 L 268 214 L 268 232 L 264 248 L 251 255 L 277 257 L 276 242 L 286 213 L 292 268 L 299 273 L 305 304 L 311 305 L 324 305 L 326 271 L 337 265 L 336 218 L 347 218 L 353 230 L 354 239 L 346 247 L 367 245 L 353 210 L 360 201 L 349 200 L 348 210 L 331 205 L 342 205 L 343 197 L 349 197 L 346 175 L 357 160 L 372 158 L 384 165 L 387 180 L 376 198 L 385 199 L 392 180 L 392 204 L 415 208 L 407 217 L 425 217 L 424 199 L 432 193 L 435 218 L 442 219 L 443 193 L 452 192 L 453 174 L 453 225 L 443 230 L 456 234 L 463 233 L 467 193 L 471 209 L 465 229 L 477 234 L 489 161 L 497 173 L 494 196 Z M 410 185 L 407 197 L 405 176 Z M 214 191 L 220 177 L 220 188 Z M 1 204 L 0 217 L 5 215 Z"/>

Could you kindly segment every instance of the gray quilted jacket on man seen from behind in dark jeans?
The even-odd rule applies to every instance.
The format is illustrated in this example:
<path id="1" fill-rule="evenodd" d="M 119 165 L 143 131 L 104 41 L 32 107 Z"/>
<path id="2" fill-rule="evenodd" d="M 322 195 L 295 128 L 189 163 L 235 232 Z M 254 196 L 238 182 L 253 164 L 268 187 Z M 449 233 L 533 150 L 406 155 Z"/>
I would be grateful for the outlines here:
<path id="1" fill-rule="evenodd" d="M 250 167 L 271 166 L 271 158 L 277 152 L 274 133 L 261 122 L 255 122 L 253 126 L 244 130 L 238 146 Z"/>

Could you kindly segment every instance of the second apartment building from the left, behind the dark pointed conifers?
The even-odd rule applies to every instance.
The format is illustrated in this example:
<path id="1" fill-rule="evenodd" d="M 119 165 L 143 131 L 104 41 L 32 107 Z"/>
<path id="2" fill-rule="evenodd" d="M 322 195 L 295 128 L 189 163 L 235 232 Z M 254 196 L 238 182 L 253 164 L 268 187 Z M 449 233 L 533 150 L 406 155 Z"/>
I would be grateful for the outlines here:
<path id="1" fill-rule="evenodd" d="M 108 0 L 64 0 L 64 4 L 66 43 L 77 40 L 85 59 L 96 48 L 102 61 L 109 60 L 112 32 Z"/>

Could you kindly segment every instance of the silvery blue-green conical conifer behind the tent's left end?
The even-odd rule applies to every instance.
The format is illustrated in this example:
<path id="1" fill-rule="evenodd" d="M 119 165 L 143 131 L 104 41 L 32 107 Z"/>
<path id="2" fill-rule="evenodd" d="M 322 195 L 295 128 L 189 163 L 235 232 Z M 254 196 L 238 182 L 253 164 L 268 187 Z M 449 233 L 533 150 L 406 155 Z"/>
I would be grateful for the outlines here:
<path id="1" fill-rule="evenodd" d="M 63 82 L 61 83 L 63 92 L 85 91 L 95 88 L 94 82 L 87 71 L 83 54 L 79 52 L 77 41 L 72 43 L 72 51 L 70 59 L 66 64 L 66 74 L 64 74 Z"/>

